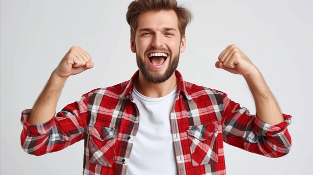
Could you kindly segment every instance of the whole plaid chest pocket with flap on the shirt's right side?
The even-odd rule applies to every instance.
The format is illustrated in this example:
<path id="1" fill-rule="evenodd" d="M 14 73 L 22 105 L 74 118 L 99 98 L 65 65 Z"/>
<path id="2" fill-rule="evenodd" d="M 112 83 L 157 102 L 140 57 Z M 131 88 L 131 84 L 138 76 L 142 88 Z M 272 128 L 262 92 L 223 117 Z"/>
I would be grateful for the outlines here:
<path id="1" fill-rule="evenodd" d="M 218 161 L 217 121 L 186 128 L 192 166 L 215 164 Z"/>

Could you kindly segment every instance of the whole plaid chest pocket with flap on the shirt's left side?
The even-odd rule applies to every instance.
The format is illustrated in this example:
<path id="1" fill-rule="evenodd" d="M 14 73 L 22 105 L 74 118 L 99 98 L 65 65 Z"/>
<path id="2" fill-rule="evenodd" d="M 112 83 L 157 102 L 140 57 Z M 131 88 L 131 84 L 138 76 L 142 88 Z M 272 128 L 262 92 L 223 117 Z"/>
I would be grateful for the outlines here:
<path id="1" fill-rule="evenodd" d="M 89 163 L 111 167 L 117 129 L 88 124 Z"/>

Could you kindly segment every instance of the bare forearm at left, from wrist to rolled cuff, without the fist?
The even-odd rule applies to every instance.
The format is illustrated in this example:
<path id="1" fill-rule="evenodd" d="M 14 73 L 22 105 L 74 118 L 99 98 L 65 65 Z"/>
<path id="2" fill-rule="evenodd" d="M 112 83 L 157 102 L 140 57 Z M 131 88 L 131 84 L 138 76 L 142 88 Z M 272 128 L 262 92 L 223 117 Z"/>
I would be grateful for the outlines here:
<path id="1" fill-rule="evenodd" d="M 43 124 L 54 117 L 56 103 L 66 78 L 57 76 L 54 71 L 46 83 L 44 89 L 34 103 L 27 122 L 31 125 Z"/>

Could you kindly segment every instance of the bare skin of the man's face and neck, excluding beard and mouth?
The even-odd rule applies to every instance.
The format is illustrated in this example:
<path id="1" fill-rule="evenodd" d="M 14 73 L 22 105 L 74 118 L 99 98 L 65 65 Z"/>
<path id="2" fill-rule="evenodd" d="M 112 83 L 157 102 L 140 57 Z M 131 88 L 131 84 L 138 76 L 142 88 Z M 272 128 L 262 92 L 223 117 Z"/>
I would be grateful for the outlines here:
<path id="1" fill-rule="evenodd" d="M 165 28 L 172 30 L 165 30 Z M 176 13 L 173 10 L 161 10 L 140 14 L 135 38 L 130 37 L 130 49 L 136 53 L 137 62 L 141 60 L 152 77 L 157 78 L 163 75 L 169 68 L 169 64 L 179 58 L 179 52 L 183 52 L 185 49 L 185 36 L 180 40 Z M 163 67 L 155 69 L 149 66 L 146 54 L 151 51 L 168 53 L 166 64 Z M 166 81 L 153 83 L 146 80 L 139 67 L 139 77 L 134 86 L 144 96 L 162 97 L 175 88 L 176 76 L 172 72 Z"/>

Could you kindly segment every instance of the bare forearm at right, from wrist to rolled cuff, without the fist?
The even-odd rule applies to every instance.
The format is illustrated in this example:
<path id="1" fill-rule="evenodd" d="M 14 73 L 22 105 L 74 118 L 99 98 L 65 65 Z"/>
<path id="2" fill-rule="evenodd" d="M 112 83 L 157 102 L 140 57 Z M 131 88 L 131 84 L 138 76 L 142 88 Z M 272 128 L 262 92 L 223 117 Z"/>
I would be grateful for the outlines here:
<path id="1" fill-rule="evenodd" d="M 261 73 L 257 70 L 255 73 L 245 76 L 244 79 L 253 95 L 257 117 L 270 125 L 283 122 L 278 103 L 266 85 Z"/>

